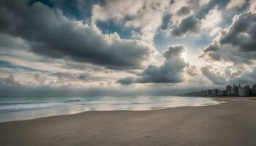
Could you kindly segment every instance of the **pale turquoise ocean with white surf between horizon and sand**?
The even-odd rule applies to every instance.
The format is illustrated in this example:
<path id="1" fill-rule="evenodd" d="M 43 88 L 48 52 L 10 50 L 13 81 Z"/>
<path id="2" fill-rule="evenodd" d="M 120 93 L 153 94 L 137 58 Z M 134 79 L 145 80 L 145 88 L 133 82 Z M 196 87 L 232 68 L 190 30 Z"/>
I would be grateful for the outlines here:
<path id="1" fill-rule="evenodd" d="M 160 110 L 219 104 L 209 98 L 182 96 L 0 96 L 0 122 L 29 120 L 86 111 Z"/>

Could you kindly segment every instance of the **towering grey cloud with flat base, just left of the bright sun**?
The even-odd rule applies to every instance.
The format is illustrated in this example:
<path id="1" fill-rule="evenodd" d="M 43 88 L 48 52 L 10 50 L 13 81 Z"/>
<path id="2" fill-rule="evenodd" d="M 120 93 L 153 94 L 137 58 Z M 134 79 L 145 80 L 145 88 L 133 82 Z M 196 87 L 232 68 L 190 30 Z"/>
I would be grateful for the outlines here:
<path id="1" fill-rule="evenodd" d="M 129 84 L 133 82 L 149 83 L 149 82 L 165 82 L 175 83 L 183 82 L 184 69 L 188 65 L 181 54 L 185 51 L 183 46 L 170 46 L 164 53 L 165 62 L 162 66 L 149 65 L 141 74 L 140 77 L 133 79 L 126 77 L 118 80 L 121 84 Z"/>

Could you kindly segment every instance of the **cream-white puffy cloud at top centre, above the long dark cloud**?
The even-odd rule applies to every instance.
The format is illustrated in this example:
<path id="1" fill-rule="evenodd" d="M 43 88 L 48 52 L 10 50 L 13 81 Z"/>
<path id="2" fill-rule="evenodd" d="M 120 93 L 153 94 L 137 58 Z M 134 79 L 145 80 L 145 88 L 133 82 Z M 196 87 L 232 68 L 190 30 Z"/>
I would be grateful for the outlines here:
<path id="1" fill-rule="evenodd" d="M 169 8 L 170 0 L 106 1 L 102 6 L 94 5 L 92 19 L 94 22 L 116 20 L 124 27 L 138 29 L 133 37 L 152 43 Z"/>

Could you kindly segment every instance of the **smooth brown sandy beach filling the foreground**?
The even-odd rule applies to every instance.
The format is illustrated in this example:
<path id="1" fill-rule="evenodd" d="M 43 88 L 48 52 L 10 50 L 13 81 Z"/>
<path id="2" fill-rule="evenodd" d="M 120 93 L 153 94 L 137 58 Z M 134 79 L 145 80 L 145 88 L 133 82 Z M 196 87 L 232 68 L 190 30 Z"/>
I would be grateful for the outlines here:
<path id="1" fill-rule="evenodd" d="M 256 145 L 256 100 L 0 123 L 0 145 Z"/>

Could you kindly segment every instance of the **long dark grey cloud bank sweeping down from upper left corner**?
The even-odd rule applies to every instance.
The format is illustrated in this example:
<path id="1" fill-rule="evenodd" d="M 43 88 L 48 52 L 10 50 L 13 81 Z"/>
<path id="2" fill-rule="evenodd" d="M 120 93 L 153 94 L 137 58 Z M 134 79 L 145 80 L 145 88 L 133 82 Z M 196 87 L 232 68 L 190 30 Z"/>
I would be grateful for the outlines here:
<path id="1" fill-rule="evenodd" d="M 42 3 L 0 3 L 0 31 L 25 39 L 34 53 L 109 69 L 140 68 L 150 55 L 143 42 L 120 39 L 118 34 L 102 35 L 96 26 L 70 20 L 59 9 Z"/>

